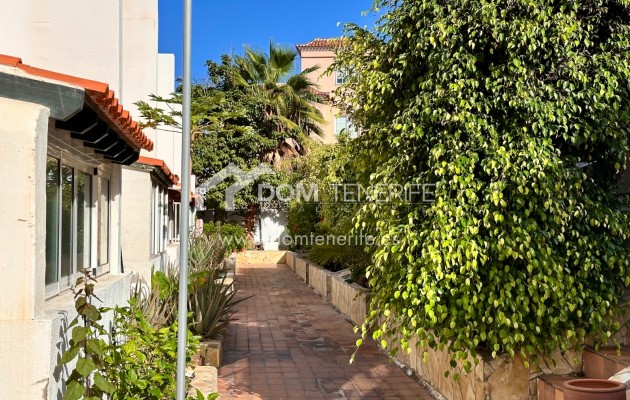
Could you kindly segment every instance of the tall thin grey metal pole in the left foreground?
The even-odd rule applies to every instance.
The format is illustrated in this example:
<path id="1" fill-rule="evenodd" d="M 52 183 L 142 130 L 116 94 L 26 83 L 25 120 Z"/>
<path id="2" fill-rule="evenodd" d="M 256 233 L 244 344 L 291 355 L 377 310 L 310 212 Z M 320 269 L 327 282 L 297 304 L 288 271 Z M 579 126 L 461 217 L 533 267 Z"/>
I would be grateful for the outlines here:
<path id="1" fill-rule="evenodd" d="M 188 240 L 190 215 L 190 54 L 192 0 L 184 0 L 184 82 L 182 97 L 182 203 L 179 241 L 179 309 L 177 320 L 177 400 L 186 399 L 188 333 Z"/>

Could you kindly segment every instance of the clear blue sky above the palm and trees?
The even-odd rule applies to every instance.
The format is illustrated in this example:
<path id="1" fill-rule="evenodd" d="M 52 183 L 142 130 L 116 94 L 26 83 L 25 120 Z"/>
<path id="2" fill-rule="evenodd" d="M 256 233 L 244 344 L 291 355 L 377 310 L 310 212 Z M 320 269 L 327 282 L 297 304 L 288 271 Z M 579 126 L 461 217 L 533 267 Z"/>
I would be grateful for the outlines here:
<path id="1" fill-rule="evenodd" d="M 174 53 L 182 75 L 182 0 L 159 0 L 159 51 Z M 314 38 L 339 36 L 345 22 L 372 26 L 363 16 L 372 0 L 193 0 L 193 78 L 205 76 L 205 61 L 242 53 L 243 45 L 265 50 L 269 39 L 294 46 Z M 337 26 L 337 23 L 341 25 Z"/>

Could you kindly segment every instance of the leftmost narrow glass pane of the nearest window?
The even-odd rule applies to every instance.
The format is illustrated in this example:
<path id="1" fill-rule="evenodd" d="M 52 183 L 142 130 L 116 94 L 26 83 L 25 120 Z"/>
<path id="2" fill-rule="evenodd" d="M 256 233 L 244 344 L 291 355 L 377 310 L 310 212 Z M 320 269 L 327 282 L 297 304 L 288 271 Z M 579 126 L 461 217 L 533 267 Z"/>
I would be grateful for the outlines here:
<path id="1" fill-rule="evenodd" d="M 46 161 L 46 285 L 59 280 L 59 160 Z"/>

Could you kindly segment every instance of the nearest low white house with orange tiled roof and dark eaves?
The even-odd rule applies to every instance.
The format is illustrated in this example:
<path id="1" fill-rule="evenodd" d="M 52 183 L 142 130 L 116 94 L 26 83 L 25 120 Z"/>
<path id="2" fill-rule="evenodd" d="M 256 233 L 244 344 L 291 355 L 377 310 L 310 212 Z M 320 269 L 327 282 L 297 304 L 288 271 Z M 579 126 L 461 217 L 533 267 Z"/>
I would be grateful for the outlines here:
<path id="1" fill-rule="evenodd" d="M 125 164 L 153 143 L 105 83 L 0 56 L 0 398 L 56 399 L 69 290 L 78 271 L 98 276 L 107 304 L 129 297 L 120 255 Z"/>

